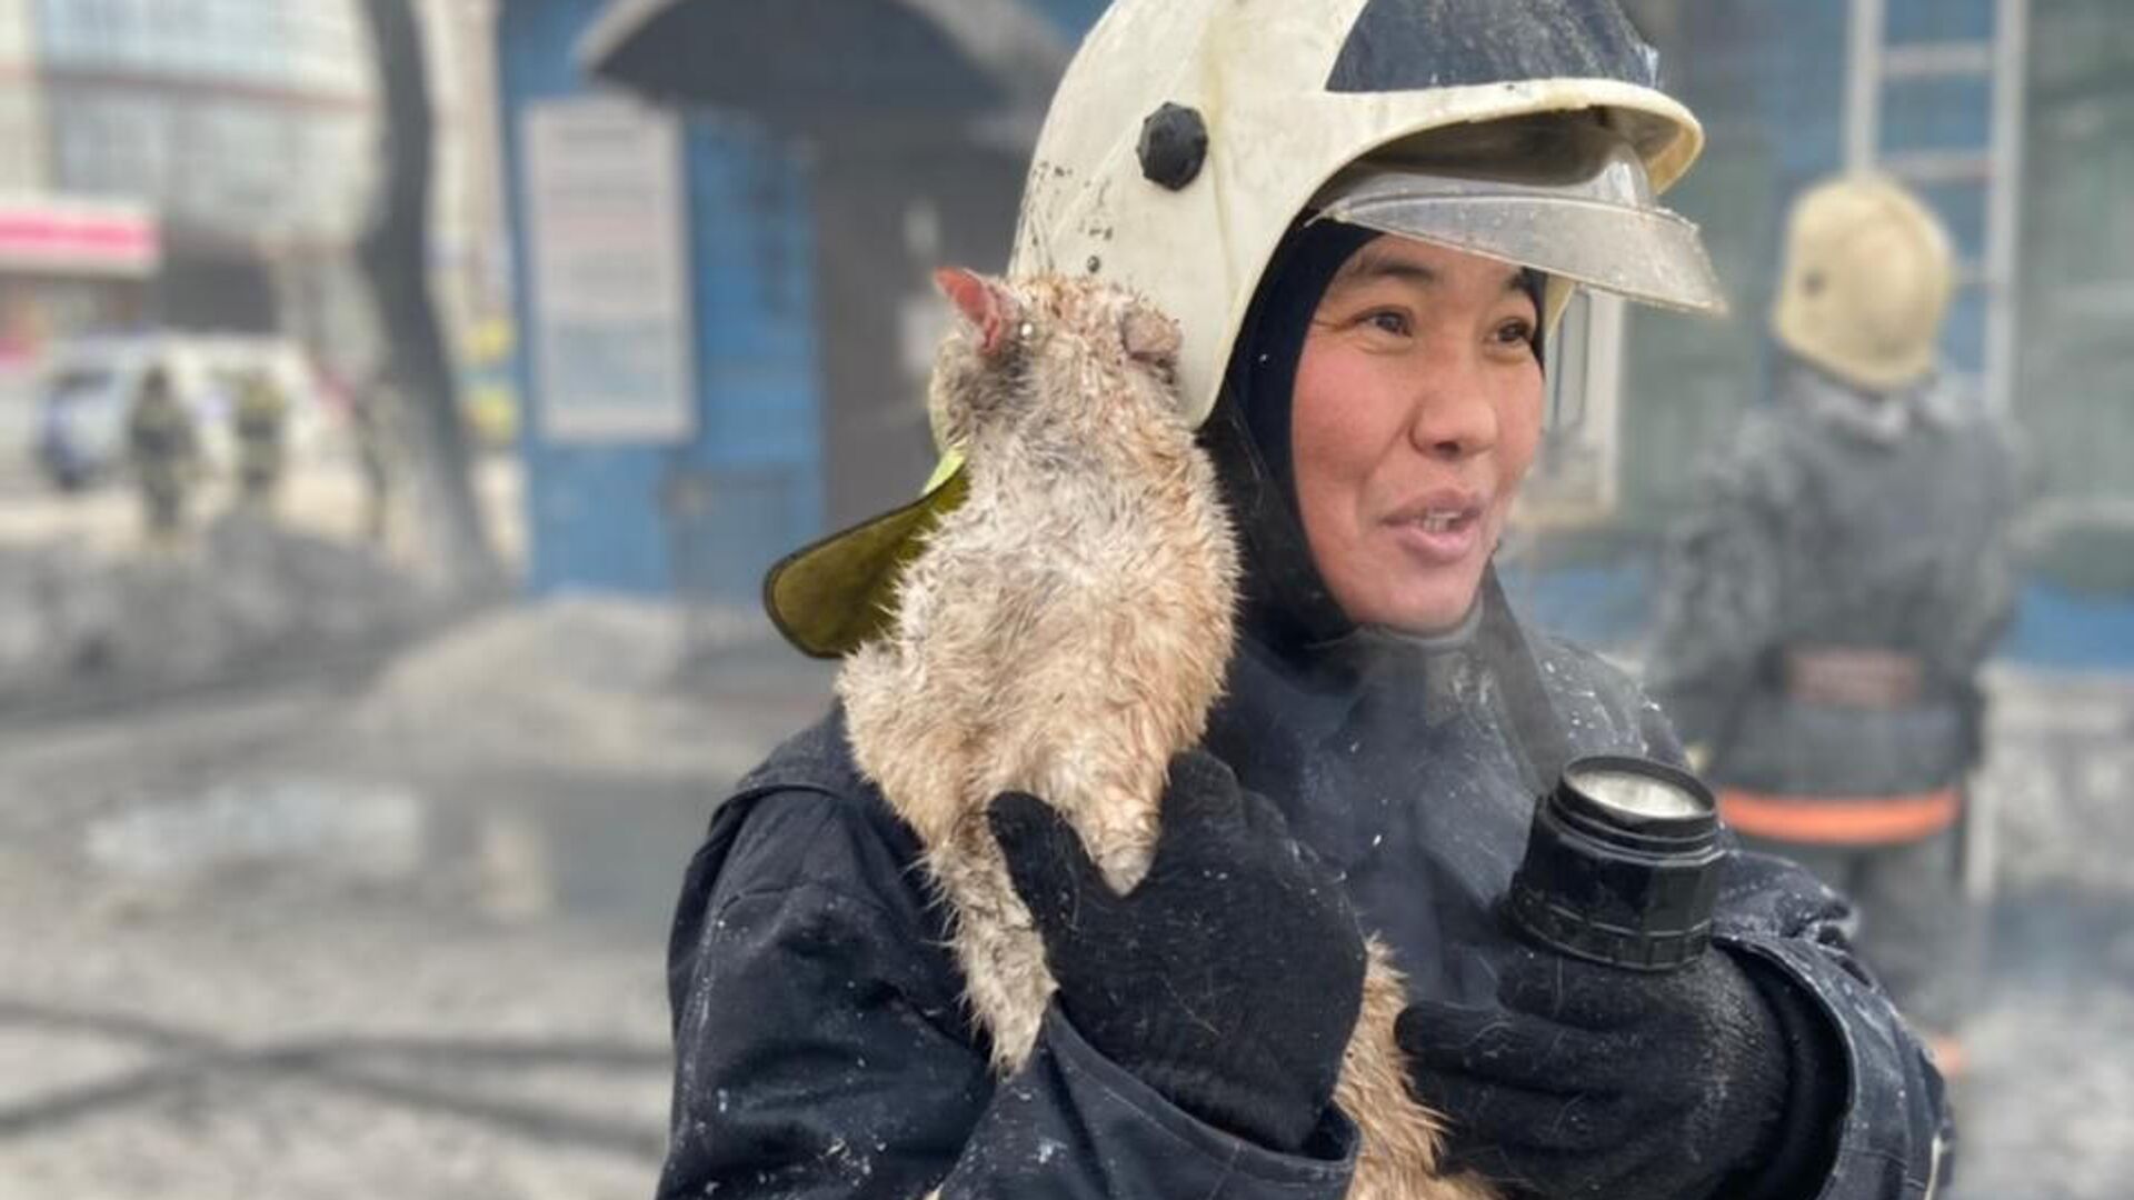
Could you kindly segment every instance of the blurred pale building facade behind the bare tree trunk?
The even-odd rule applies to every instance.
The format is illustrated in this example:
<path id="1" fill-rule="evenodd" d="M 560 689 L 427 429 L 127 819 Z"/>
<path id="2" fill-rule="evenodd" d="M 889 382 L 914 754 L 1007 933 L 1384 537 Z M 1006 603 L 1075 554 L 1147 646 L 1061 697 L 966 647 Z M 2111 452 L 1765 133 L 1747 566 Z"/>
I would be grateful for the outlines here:
<path id="1" fill-rule="evenodd" d="M 380 130 L 359 2 L 0 0 L 0 192 L 132 205 L 158 231 L 134 307 L 75 305 L 45 322 L 51 335 L 271 331 L 348 374 L 367 367 L 376 322 L 352 250 Z M 437 295 L 457 329 L 474 329 L 508 307 L 493 2 L 416 0 L 416 13 L 435 111 Z"/>

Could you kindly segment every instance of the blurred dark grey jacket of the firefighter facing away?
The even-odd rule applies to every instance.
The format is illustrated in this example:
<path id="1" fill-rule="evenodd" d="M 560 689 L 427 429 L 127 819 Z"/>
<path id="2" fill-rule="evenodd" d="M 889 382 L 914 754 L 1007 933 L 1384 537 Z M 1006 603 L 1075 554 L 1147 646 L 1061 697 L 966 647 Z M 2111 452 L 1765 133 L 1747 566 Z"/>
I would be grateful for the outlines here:
<path id="1" fill-rule="evenodd" d="M 1671 532 L 1652 694 L 1720 786 L 1901 796 L 1978 758 L 1978 664 L 2014 602 L 2002 427 L 1946 384 L 1867 397 L 1793 365 Z M 1910 698 L 1805 688 L 1810 658 L 1908 668 Z"/>

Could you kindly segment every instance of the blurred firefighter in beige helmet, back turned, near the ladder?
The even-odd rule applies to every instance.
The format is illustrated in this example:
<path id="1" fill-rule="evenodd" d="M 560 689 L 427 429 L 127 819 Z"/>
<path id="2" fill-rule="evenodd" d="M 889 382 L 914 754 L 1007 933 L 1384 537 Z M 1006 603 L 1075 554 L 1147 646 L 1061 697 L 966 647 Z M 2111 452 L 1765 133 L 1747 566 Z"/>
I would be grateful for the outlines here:
<path id="1" fill-rule="evenodd" d="M 1775 399 L 1671 530 L 1650 673 L 1729 824 L 1859 905 L 1865 959 L 1950 1074 L 1963 786 L 2019 502 L 2008 429 L 1936 361 L 1953 286 L 1946 231 L 1901 186 L 1795 203 Z"/>

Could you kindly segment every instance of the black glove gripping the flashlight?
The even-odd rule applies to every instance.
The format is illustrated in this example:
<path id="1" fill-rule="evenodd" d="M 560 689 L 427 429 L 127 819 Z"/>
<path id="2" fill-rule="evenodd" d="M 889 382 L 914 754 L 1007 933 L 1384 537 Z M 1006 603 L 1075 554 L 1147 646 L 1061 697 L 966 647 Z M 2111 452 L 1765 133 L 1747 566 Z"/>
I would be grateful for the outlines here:
<path id="1" fill-rule="evenodd" d="M 1449 1162 L 1549 1200 L 1805 1200 L 1835 1153 L 1844 1055 L 1775 967 L 1671 974 L 1517 948 L 1502 1008 L 1417 1001 L 1396 1038 Z"/>

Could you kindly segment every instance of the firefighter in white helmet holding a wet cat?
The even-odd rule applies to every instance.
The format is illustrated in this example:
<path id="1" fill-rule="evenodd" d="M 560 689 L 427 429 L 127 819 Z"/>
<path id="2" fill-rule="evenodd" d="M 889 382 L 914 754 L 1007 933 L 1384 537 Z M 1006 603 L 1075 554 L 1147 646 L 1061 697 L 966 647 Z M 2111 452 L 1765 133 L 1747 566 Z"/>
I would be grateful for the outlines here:
<path id="1" fill-rule="evenodd" d="M 1807 873 L 1729 858 L 1716 948 L 1667 976 L 1530 948 L 1496 910 L 1571 756 L 1679 760 L 1660 711 L 1524 630 L 1490 566 L 1541 438 L 1545 322 L 1581 282 L 1720 303 L 1694 226 L 1652 196 L 1694 160 L 1694 117 L 1613 4 L 1568 13 L 1101 19 L 1009 273 L 1099 273 L 1178 318 L 1246 564 L 1227 694 L 1127 897 L 1039 799 L 992 803 L 1058 982 L 1007 1078 L 841 717 L 743 779 L 670 935 L 662 1196 L 1344 1196 L 1332 1091 L 1366 931 L 1408 976 L 1400 1044 L 1453 1168 L 1517 1196 L 1931 1189 L 1940 1078 Z M 781 632 L 817 656 L 877 634 L 954 483 L 773 568 Z"/>

